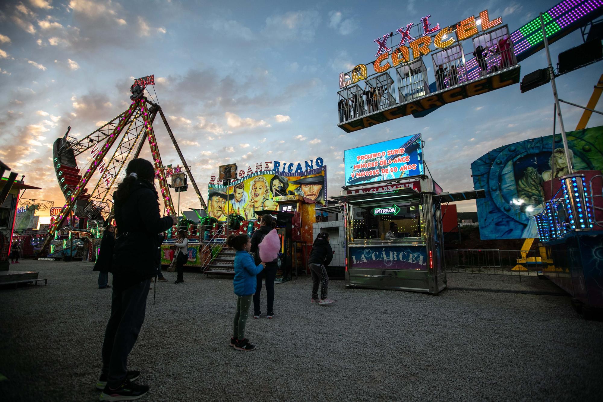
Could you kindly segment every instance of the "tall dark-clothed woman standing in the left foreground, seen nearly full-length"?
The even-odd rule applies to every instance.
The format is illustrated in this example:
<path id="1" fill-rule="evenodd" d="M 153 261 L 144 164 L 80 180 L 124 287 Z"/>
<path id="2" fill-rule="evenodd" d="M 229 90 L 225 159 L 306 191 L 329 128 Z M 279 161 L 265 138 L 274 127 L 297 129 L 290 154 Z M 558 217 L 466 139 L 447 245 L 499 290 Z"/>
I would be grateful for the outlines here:
<path id="1" fill-rule="evenodd" d="M 113 253 L 111 316 L 103 342 L 103 371 L 96 388 L 101 400 L 134 400 L 148 386 L 133 384 L 140 375 L 127 371 L 128 354 L 145 319 L 151 278 L 157 273 L 157 233 L 175 225 L 174 216 L 161 217 L 155 170 L 145 159 L 133 159 L 113 194 L 119 237 Z"/>

